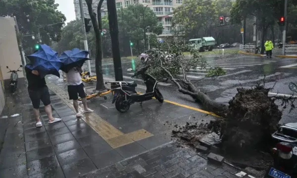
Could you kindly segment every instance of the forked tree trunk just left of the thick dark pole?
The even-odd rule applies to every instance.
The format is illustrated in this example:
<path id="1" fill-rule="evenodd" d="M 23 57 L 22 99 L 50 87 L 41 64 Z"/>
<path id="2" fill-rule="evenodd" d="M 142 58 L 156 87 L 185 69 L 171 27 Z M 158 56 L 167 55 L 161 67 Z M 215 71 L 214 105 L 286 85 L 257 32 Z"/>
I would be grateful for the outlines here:
<path id="1" fill-rule="evenodd" d="M 100 1 L 103 1 L 103 0 L 100 0 Z M 102 73 L 102 46 L 101 46 L 101 32 L 100 32 L 101 29 L 99 29 L 99 24 L 96 19 L 96 13 L 93 12 L 93 8 L 92 8 L 93 0 L 86 0 L 86 3 L 88 6 L 89 15 L 91 17 L 91 21 L 93 24 L 93 28 L 95 31 L 95 37 L 96 37 L 96 59 L 95 59 L 95 68 L 96 68 L 96 76 L 97 76 L 96 89 L 103 90 L 103 89 L 105 89 L 105 86 L 104 86 L 103 73 Z M 102 2 L 101 2 L 101 4 L 102 4 Z M 98 7 L 99 7 L 99 5 L 98 5 Z M 100 8 L 101 8 L 101 6 L 100 6 Z M 98 15 L 101 16 L 100 12 L 101 11 L 99 10 Z"/>

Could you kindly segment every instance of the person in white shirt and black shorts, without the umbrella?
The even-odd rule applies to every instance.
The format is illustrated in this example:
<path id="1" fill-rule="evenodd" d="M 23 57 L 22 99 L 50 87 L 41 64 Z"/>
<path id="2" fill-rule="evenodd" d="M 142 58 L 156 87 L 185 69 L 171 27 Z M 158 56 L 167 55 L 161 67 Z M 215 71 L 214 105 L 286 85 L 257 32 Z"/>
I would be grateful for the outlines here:
<path id="1" fill-rule="evenodd" d="M 66 73 L 66 80 L 68 84 L 68 94 L 69 99 L 73 100 L 73 107 L 76 111 L 76 117 L 81 117 L 81 113 L 78 110 L 78 96 L 82 98 L 84 105 L 84 113 L 94 112 L 92 109 L 88 108 L 87 99 L 86 99 L 86 90 L 82 82 L 80 73 L 82 69 L 80 67 L 74 67 Z"/>

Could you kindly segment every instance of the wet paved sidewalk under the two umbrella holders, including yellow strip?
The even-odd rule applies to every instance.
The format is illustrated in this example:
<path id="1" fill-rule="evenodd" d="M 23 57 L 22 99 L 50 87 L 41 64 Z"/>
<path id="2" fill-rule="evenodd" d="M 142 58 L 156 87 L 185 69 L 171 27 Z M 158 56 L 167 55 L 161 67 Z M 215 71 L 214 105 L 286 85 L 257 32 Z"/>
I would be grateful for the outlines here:
<path id="1" fill-rule="evenodd" d="M 239 173 L 211 165 L 205 155 L 171 140 L 173 123 L 209 122 L 213 116 L 154 99 L 119 113 L 110 98 L 96 98 L 88 102 L 95 112 L 77 119 L 65 83 L 47 81 L 53 116 L 62 122 L 49 125 L 41 107 L 42 128 L 35 127 L 25 85 L 6 93 L 0 178 L 235 178 Z"/>

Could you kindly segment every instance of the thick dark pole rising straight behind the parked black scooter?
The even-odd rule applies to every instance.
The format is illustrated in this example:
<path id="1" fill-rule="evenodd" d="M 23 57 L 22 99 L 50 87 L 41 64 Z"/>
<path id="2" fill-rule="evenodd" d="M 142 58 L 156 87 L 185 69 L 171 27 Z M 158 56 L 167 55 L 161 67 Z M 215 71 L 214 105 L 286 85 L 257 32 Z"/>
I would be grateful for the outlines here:
<path id="1" fill-rule="evenodd" d="M 109 31 L 111 37 L 112 57 L 114 66 L 114 76 L 116 81 L 123 81 L 123 71 L 119 44 L 119 30 L 117 24 L 117 14 L 115 0 L 107 0 Z"/>

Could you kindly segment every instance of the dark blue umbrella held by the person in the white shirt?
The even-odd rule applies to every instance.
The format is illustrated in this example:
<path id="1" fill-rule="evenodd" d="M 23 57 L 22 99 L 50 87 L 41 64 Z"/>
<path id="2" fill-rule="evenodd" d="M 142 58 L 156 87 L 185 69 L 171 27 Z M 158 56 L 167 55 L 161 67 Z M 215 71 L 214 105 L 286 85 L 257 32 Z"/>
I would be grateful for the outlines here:
<path id="1" fill-rule="evenodd" d="M 59 56 L 59 59 L 63 62 L 61 70 L 67 73 L 74 67 L 82 67 L 86 60 L 90 60 L 87 58 L 88 55 L 88 51 L 80 50 L 79 48 L 64 51 Z"/>

